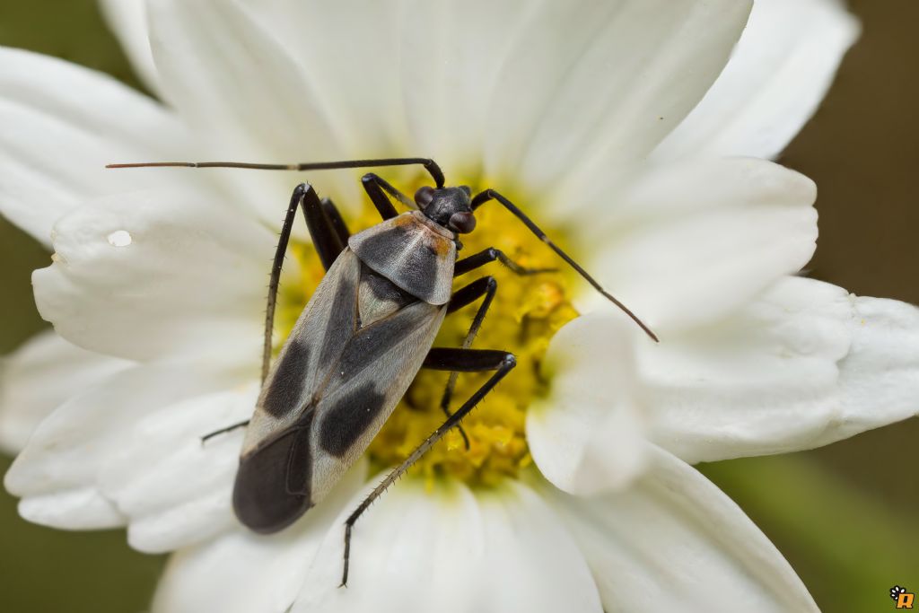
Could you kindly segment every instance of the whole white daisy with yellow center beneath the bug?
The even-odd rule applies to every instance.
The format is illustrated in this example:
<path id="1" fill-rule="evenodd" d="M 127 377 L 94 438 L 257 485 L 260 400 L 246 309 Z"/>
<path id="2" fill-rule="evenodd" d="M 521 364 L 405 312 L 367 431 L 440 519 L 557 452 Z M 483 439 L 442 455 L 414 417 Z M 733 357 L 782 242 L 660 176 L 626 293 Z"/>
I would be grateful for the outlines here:
<path id="1" fill-rule="evenodd" d="M 0 208 L 54 251 L 33 283 L 56 334 L 20 349 L 4 380 L 0 432 L 24 446 L 6 487 L 23 517 L 126 526 L 137 549 L 178 550 L 162 611 L 815 608 L 687 462 L 916 412 L 919 314 L 792 277 L 814 248 L 815 188 L 765 161 L 857 35 L 837 3 L 104 7 L 163 102 L 24 51 L 0 62 Z M 322 504 L 248 532 L 230 504 L 244 433 L 200 437 L 252 414 L 268 258 L 299 177 L 103 165 L 397 154 L 511 196 L 663 342 L 567 271 L 489 270 L 499 292 L 475 346 L 519 365 L 464 421 L 469 449 L 451 433 L 357 525 L 338 589 L 344 517 L 442 419 L 443 376 L 419 374 Z M 357 176 L 308 177 L 352 230 L 371 222 Z M 468 253 L 558 266 L 501 210 L 479 223 Z M 298 232 L 278 346 L 322 275 Z M 468 323 L 448 318 L 437 345 Z M 459 381 L 468 397 L 476 378 Z"/>

